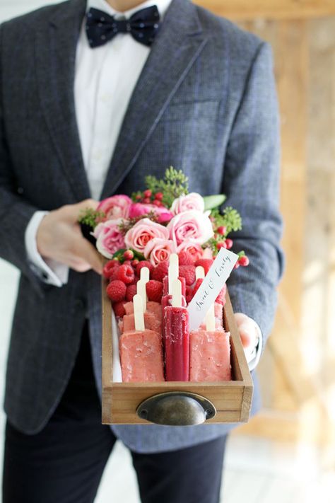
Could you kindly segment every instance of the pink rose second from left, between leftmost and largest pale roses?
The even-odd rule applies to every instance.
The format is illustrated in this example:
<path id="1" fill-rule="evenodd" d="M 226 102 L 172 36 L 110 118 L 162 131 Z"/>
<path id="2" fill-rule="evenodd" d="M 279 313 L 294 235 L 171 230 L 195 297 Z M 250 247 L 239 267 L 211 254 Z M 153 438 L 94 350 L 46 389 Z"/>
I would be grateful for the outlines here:
<path id="1" fill-rule="evenodd" d="M 139 220 L 124 236 L 127 248 L 132 248 L 139 253 L 144 253 L 148 241 L 154 238 L 168 239 L 167 227 L 157 224 L 149 219 Z"/>

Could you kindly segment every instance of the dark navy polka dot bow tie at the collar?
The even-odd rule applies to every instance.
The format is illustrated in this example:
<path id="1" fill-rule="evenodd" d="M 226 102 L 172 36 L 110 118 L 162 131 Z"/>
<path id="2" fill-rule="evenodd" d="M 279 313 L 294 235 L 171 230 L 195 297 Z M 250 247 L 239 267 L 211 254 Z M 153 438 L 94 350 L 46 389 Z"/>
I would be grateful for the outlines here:
<path id="1" fill-rule="evenodd" d="M 142 8 L 129 19 L 117 20 L 109 14 L 90 8 L 86 33 L 90 47 L 104 45 L 118 33 L 130 33 L 137 42 L 151 45 L 160 26 L 157 6 Z"/>

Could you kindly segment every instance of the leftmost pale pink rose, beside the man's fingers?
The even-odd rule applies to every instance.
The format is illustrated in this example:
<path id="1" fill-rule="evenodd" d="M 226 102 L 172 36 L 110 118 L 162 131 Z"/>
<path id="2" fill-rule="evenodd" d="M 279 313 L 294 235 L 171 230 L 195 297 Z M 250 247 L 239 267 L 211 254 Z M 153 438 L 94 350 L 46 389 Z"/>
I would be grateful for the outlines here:
<path id="1" fill-rule="evenodd" d="M 119 231 L 122 219 L 108 220 L 98 224 L 93 232 L 98 251 L 106 258 L 112 258 L 120 248 L 124 248 L 124 236 Z"/>

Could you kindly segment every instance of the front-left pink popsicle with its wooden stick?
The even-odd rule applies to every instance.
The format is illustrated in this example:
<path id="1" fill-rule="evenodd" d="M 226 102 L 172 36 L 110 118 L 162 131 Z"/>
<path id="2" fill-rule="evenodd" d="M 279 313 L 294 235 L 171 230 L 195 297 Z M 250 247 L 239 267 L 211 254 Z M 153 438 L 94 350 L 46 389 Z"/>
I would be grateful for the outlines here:
<path id="1" fill-rule="evenodd" d="M 139 294 L 134 296 L 134 323 L 135 330 L 124 332 L 119 339 L 122 381 L 164 381 L 160 335 L 145 328 L 143 299 Z"/>

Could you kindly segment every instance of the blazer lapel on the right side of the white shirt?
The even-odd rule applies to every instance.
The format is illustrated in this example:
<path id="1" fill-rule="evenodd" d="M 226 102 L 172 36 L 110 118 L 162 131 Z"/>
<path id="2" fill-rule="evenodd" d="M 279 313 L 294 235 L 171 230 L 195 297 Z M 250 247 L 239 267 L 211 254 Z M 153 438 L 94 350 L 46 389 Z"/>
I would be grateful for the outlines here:
<path id="1" fill-rule="evenodd" d="M 131 96 L 101 199 L 112 195 L 134 166 L 206 41 L 196 7 L 189 0 L 172 0 Z"/>

